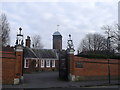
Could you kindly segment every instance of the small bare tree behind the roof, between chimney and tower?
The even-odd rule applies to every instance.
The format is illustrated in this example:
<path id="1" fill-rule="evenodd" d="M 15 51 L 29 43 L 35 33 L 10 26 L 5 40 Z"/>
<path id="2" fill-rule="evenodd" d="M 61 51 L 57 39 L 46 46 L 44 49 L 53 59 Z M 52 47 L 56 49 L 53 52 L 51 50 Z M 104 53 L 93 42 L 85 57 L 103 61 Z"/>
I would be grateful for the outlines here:
<path id="1" fill-rule="evenodd" d="M 32 37 L 32 47 L 36 48 L 36 49 L 42 49 L 43 48 L 43 44 L 41 42 L 40 35 L 34 35 Z"/>

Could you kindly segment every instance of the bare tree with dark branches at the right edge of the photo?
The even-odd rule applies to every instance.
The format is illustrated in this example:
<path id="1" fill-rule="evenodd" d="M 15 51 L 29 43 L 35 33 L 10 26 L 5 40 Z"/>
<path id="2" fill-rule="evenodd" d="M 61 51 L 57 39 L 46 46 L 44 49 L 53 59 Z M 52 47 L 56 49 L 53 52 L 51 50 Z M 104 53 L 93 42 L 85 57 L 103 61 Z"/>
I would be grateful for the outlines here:
<path id="1" fill-rule="evenodd" d="M 118 24 L 114 26 L 103 26 L 103 30 L 105 30 L 105 34 L 107 36 L 107 48 L 114 49 L 119 51 L 120 50 L 120 26 Z"/>

